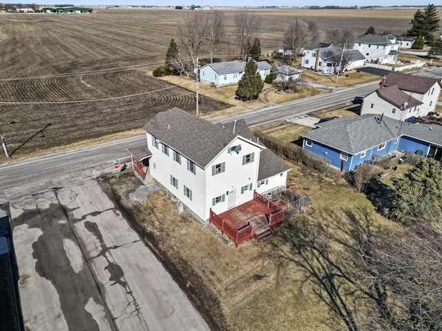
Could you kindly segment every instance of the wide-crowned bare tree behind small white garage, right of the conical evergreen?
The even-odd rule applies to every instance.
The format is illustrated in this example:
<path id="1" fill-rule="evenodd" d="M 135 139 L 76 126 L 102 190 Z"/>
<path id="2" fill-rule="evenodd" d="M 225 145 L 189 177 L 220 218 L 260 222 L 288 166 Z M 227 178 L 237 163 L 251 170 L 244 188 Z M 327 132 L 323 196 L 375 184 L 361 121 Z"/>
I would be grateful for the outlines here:
<path id="1" fill-rule="evenodd" d="M 284 34 L 284 50 L 291 59 L 291 66 L 298 59 L 300 52 L 318 37 L 318 29 L 311 22 L 302 19 L 290 21 Z"/>

